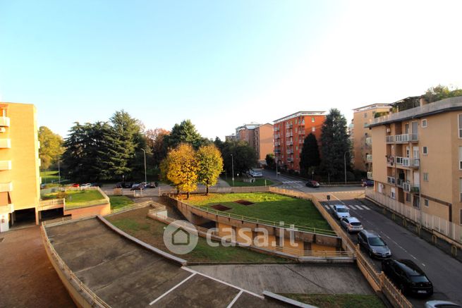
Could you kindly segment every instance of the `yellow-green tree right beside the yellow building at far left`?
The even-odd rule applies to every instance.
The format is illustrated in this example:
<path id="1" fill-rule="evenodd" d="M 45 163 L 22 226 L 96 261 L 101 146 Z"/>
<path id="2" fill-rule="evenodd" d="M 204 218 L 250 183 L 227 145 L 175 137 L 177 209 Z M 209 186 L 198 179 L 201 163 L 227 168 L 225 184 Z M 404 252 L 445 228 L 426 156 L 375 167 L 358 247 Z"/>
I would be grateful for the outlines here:
<path id="1" fill-rule="evenodd" d="M 39 128 L 39 158 L 42 169 L 47 170 L 57 163 L 59 156 L 63 154 L 63 138 L 53 133 L 47 126 Z"/>

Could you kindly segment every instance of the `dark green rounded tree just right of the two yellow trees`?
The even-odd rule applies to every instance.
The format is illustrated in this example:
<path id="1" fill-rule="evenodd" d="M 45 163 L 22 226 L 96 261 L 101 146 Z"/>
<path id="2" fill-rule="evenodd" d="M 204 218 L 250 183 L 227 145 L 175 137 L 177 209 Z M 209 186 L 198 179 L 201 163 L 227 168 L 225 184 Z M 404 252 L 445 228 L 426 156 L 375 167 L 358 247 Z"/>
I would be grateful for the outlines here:
<path id="1" fill-rule="evenodd" d="M 231 159 L 231 154 L 233 154 L 233 159 Z M 257 164 L 255 149 L 242 140 L 224 142 L 221 156 L 223 156 L 224 168 L 230 174 L 232 172 L 232 165 L 234 166 L 234 174 L 243 174 Z"/>

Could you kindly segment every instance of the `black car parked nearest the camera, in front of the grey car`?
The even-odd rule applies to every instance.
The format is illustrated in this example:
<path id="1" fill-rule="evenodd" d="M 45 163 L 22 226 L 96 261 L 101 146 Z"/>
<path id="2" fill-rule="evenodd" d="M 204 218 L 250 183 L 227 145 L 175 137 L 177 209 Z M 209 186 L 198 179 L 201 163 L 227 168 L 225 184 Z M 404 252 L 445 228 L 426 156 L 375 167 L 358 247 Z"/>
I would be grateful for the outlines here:
<path id="1" fill-rule="evenodd" d="M 433 294 L 432 282 L 411 260 L 384 260 L 382 261 L 382 271 L 405 295 L 430 296 Z"/>

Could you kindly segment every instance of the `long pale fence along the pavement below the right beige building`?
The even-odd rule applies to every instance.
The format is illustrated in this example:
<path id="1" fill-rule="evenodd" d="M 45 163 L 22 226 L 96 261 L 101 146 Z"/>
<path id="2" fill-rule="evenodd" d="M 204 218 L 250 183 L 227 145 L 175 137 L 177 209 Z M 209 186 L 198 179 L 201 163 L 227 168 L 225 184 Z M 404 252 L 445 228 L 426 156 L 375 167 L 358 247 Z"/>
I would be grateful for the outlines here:
<path id="1" fill-rule="evenodd" d="M 406 204 L 396 201 L 383 195 L 375 190 L 366 190 L 366 197 L 382 204 L 382 206 L 391 209 L 391 211 L 400 214 L 428 230 L 436 230 L 438 233 L 445 235 L 462 245 L 462 226 L 452 223 L 444 218 L 430 215 L 415 207 L 409 207 Z"/>

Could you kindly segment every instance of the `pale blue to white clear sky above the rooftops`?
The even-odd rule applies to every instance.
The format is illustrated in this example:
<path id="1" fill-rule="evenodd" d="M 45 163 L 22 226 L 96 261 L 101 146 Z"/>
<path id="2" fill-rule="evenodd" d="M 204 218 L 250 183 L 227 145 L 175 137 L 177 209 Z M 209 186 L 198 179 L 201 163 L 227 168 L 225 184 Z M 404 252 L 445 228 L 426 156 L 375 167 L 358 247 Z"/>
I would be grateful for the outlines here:
<path id="1" fill-rule="evenodd" d="M 0 0 L 0 101 L 66 137 L 118 110 L 224 139 L 251 121 L 462 87 L 462 1 Z"/>

